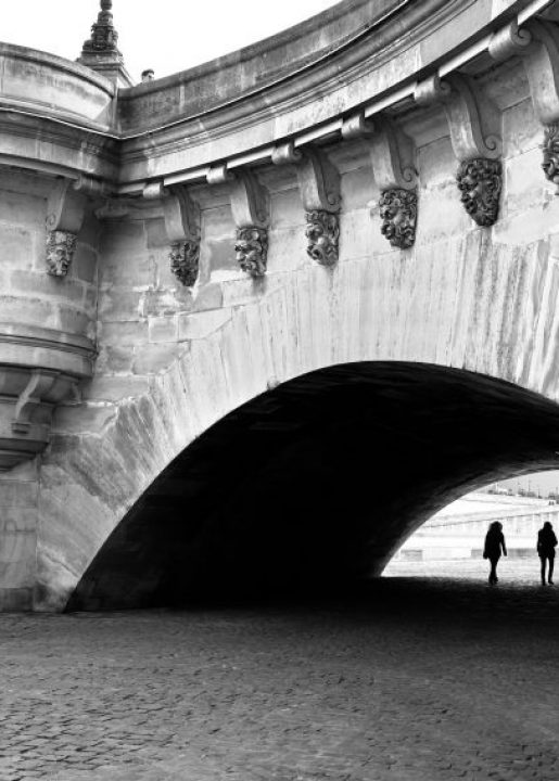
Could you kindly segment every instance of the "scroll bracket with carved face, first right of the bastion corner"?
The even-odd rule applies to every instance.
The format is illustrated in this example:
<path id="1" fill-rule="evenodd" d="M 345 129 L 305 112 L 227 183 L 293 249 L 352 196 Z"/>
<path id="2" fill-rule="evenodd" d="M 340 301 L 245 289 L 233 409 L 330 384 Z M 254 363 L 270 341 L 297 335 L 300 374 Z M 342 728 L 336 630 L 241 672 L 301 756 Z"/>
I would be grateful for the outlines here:
<path id="1" fill-rule="evenodd" d="M 170 243 L 170 270 L 185 287 L 192 287 L 200 268 L 200 208 L 185 187 L 169 192 L 161 184 L 143 192 L 147 199 L 161 199 L 165 230 Z"/>

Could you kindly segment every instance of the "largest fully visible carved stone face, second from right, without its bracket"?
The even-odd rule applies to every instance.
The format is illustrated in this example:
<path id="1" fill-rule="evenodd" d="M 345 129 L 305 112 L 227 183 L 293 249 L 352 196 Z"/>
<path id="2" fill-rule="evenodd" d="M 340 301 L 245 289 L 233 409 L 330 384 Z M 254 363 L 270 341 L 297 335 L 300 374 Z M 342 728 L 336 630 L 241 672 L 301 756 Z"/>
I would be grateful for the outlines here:
<path id="1" fill-rule="evenodd" d="M 460 201 L 470 217 L 482 227 L 496 222 L 503 188 L 500 161 L 477 157 L 460 163 L 457 172 Z"/>

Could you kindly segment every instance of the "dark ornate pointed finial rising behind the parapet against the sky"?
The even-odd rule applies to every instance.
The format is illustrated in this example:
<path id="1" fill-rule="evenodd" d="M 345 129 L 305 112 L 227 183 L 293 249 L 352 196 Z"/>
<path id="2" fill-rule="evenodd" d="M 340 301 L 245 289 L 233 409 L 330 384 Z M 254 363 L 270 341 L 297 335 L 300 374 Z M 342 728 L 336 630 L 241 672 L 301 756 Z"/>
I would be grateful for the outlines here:
<path id="1" fill-rule="evenodd" d="M 113 23 L 113 0 L 101 0 L 101 11 L 91 27 L 91 38 L 84 43 L 78 62 L 106 76 L 118 87 L 134 82 L 117 47 L 118 33 Z"/>

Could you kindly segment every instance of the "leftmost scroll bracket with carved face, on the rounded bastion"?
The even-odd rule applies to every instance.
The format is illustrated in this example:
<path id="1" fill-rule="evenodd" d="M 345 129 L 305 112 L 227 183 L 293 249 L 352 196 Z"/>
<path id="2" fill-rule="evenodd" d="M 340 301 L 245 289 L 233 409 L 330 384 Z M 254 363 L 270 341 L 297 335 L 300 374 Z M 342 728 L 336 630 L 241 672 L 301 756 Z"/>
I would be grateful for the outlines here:
<path id="1" fill-rule="evenodd" d="M 87 180 L 61 179 L 51 191 L 47 205 L 47 272 L 65 277 L 74 259 L 77 234 L 86 215 L 86 195 L 80 192 Z"/>

